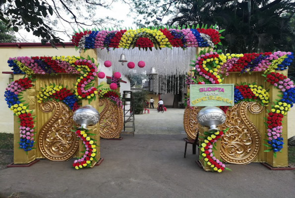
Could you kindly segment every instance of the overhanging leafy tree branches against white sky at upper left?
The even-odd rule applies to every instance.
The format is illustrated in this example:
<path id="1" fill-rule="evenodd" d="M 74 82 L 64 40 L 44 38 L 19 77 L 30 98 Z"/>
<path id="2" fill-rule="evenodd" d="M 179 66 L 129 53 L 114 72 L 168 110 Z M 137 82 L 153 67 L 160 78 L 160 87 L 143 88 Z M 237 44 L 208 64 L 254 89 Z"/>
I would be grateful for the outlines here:
<path id="1" fill-rule="evenodd" d="M 24 28 L 27 32 L 42 38 L 41 43 L 49 42 L 52 47 L 62 39 L 55 36 L 55 31 L 60 31 L 64 24 L 71 27 L 100 26 L 105 24 L 120 24 L 121 21 L 112 17 L 97 18 L 99 8 L 108 8 L 110 4 L 95 0 L 0 0 L 0 20 L 18 32 Z"/>

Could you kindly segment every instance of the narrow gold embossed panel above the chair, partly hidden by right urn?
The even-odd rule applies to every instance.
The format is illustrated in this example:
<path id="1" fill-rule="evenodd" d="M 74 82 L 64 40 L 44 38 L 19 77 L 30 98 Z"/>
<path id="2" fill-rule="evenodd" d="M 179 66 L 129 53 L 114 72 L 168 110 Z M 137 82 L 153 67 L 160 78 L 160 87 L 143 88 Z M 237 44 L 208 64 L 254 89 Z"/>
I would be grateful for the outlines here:
<path id="1" fill-rule="evenodd" d="M 187 138 L 196 139 L 199 123 L 197 120 L 198 107 L 194 106 L 188 107 L 186 106 L 183 114 L 183 127 L 184 131 L 187 134 Z"/>

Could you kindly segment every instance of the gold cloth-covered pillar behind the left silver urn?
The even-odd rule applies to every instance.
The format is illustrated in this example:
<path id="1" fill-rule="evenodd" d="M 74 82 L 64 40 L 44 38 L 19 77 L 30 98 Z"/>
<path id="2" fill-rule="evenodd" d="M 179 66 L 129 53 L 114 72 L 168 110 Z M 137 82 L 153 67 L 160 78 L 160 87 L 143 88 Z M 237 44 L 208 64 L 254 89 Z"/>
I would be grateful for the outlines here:
<path id="1" fill-rule="evenodd" d="M 82 50 L 82 52 L 80 53 L 80 56 L 81 57 L 84 57 L 87 59 L 88 55 L 90 56 L 90 58 L 93 58 L 94 59 L 94 64 L 97 65 L 97 54 L 96 54 L 96 49 L 87 49 L 85 52 Z M 97 87 L 98 86 L 98 79 L 96 78 L 95 82 L 94 82 L 94 86 L 93 87 Z M 93 106 L 95 109 L 99 109 L 99 102 L 98 102 L 98 96 L 96 97 L 95 100 L 92 100 L 90 103 L 88 102 L 88 99 L 83 99 L 82 100 L 82 106 L 85 106 L 85 105 L 91 105 Z M 97 161 L 99 161 L 100 159 L 100 132 L 99 132 L 99 123 L 97 123 L 96 125 L 94 126 L 91 126 L 91 127 L 87 127 L 88 130 L 91 130 L 90 133 L 92 134 L 95 134 L 94 136 L 92 136 L 92 138 L 94 140 L 96 140 L 96 150 L 97 150 L 97 154 L 95 156 L 95 159 L 96 160 L 92 160 L 91 162 L 91 166 L 90 167 L 93 167 Z M 79 157 L 82 157 L 83 156 L 83 153 L 84 152 L 84 148 L 81 146 L 83 144 L 83 141 L 79 140 Z M 80 152 L 81 151 L 81 152 Z"/>

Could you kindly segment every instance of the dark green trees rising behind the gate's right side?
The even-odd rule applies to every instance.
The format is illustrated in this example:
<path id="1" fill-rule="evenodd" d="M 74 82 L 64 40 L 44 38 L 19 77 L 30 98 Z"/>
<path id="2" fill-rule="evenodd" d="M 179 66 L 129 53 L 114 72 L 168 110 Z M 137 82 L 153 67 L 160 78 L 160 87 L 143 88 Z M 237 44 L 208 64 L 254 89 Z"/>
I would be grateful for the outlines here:
<path id="1" fill-rule="evenodd" d="M 145 25 L 169 17 L 167 25 L 217 24 L 224 52 L 294 51 L 295 1 L 293 0 L 131 0 L 133 11 Z M 139 21 L 137 21 L 138 23 Z M 197 26 L 198 28 L 198 26 Z"/>

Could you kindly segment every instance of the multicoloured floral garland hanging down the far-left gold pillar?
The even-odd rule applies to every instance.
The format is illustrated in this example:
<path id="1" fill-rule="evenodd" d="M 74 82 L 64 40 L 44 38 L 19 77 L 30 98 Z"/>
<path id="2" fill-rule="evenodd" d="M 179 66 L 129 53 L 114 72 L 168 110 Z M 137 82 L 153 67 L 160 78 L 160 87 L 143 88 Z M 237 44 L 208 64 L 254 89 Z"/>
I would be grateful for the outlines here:
<path id="1" fill-rule="evenodd" d="M 35 144 L 34 141 L 34 117 L 32 117 L 31 113 L 28 110 L 28 104 L 23 104 L 19 98 L 22 95 L 23 91 L 30 89 L 32 87 L 32 82 L 35 81 L 28 78 L 21 78 L 19 80 L 12 81 L 8 84 L 6 88 L 4 97 L 6 103 L 10 110 L 13 111 L 13 114 L 18 116 L 19 118 L 19 133 L 20 133 L 20 142 L 19 148 L 24 149 L 24 151 L 29 151 Z"/>

